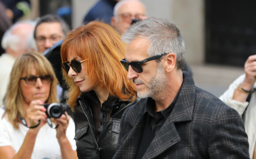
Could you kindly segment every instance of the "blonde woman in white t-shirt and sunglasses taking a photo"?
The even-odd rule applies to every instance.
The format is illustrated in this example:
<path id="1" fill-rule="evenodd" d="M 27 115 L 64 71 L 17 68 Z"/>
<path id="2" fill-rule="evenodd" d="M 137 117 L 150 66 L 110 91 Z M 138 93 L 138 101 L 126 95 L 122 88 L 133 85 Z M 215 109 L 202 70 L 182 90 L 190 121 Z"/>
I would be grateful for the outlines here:
<path id="1" fill-rule="evenodd" d="M 49 118 L 53 113 L 42 105 L 58 102 L 58 80 L 49 61 L 28 52 L 11 71 L 0 111 L 0 159 L 77 159 L 72 118 L 64 111 Z"/>

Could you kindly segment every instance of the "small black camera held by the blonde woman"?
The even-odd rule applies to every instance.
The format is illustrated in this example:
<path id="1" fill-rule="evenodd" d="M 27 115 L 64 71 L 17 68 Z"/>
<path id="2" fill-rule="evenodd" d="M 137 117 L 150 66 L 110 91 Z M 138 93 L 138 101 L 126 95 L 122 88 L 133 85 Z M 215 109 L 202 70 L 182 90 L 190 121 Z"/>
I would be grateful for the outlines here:
<path id="1" fill-rule="evenodd" d="M 59 103 L 42 104 L 46 108 L 48 118 L 60 118 L 65 113 L 65 108 Z"/>

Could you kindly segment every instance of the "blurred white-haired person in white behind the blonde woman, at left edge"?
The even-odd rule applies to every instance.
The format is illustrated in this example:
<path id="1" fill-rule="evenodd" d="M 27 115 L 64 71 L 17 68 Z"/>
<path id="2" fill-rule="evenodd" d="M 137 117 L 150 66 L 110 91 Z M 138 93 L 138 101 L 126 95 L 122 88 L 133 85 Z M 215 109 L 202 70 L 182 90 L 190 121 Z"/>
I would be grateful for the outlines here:
<path id="1" fill-rule="evenodd" d="M 29 41 L 29 37 L 33 35 L 34 27 L 34 21 L 20 21 L 16 22 L 4 33 L 2 47 L 6 53 L 0 56 L 0 107 L 3 104 L 15 59 L 19 55 L 30 51 L 29 45 L 33 40 Z"/>

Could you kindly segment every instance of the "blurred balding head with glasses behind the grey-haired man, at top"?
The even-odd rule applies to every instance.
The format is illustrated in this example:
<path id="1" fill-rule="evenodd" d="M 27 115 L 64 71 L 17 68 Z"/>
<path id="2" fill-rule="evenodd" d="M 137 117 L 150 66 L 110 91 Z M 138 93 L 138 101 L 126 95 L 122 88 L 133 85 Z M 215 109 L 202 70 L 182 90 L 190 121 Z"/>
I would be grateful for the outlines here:
<path id="1" fill-rule="evenodd" d="M 145 19 L 146 8 L 139 0 L 120 0 L 114 7 L 111 26 L 123 34 L 131 27 L 132 19 Z"/>

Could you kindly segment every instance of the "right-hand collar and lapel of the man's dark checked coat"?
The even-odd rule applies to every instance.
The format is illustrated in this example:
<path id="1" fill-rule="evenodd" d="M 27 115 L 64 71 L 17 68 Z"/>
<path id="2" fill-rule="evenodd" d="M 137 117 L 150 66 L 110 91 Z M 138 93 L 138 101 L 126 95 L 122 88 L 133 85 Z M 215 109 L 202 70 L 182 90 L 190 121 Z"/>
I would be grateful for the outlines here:
<path id="1" fill-rule="evenodd" d="M 192 120 L 195 103 L 195 85 L 192 78 L 187 79 L 186 74 L 183 75 L 183 85 L 173 111 L 166 119 L 158 134 L 154 137 L 143 159 L 152 159 L 181 141 L 174 123 Z"/>

